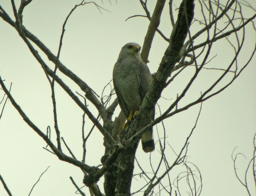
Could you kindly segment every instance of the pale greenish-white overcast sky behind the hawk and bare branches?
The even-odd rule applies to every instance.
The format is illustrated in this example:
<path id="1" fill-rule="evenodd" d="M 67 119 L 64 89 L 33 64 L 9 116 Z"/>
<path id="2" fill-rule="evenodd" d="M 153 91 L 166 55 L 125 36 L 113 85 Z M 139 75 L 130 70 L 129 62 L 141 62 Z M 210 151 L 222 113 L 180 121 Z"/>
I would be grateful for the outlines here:
<path id="1" fill-rule="evenodd" d="M 20 1 L 15 1 L 16 7 Z M 148 9 L 153 13 L 154 1 L 148 1 Z M 225 1 L 224 1 L 225 2 Z M 256 7 L 254 0 L 249 0 Z M 23 25 L 36 35 L 55 55 L 57 55 L 62 24 L 70 10 L 80 1 L 68 0 L 33 0 L 23 12 Z M 149 21 L 147 18 L 137 17 L 125 21 L 128 17 L 136 14 L 144 15 L 139 0 L 97 1 L 97 3 L 110 12 L 99 10 L 93 4 L 78 7 L 68 19 L 66 31 L 63 38 L 60 61 L 73 73 L 82 78 L 97 94 L 101 95 L 104 86 L 112 79 L 113 66 L 118 57 L 121 47 L 128 42 L 136 42 L 141 46 L 147 32 Z M 179 7 L 180 1 L 174 1 Z M 200 13 L 200 5 L 196 1 L 195 13 Z M 0 5 L 14 20 L 11 2 L 2 0 Z M 175 6 L 173 6 L 175 8 Z M 170 36 L 172 27 L 169 19 L 168 2 L 163 11 L 159 29 L 164 35 Z M 174 12 L 176 14 L 176 12 Z M 251 17 L 255 12 L 244 8 L 244 17 Z M 198 18 L 201 15 L 196 15 Z M 175 17 L 176 19 L 176 17 Z M 256 22 L 256 20 L 254 20 Z M 203 25 L 195 22 L 191 27 L 194 35 Z M 193 28 L 194 27 L 194 28 Z M 238 57 L 238 67 L 247 62 L 255 44 L 255 32 L 252 25 L 246 28 L 246 39 L 243 51 Z M 240 35 L 240 34 L 239 34 Z M 232 40 L 232 36 L 230 36 Z M 202 42 L 199 40 L 198 42 Z M 157 33 L 149 54 L 148 67 L 151 73 L 155 73 L 161 62 L 168 43 Z M 27 45 L 19 37 L 16 30 L 0 19 L 0 75 L 9 88 L 12 82 L 11 94 L 18 105 L 23 109 L 32 122 L 46 133 L 47 126 L 52 129 L 52 141 L 55 139 L 51 88 L 45 77 L 40 64 L 30 53 Z M 54 65 L 37 47 L 39 54 L 47 65 Z M 234 54 L 233 49 L 225 39 L 219 40 L 213 46 L 209 59 L 212 59 L 206 67 L 223 68 L 228 67 L 230 59 Z M 200 59 L 199 59 L 200 60 Z M 202 60 L 202 59 L 201 59 Z M 199 61 L 200 62 L 200 61 Z M 237 173 L 244 182 L 245 169 L 249 160 L 253 157 L 253 136 L 256 130 L 256 57 L 244 69 L 242 74 L 226 90 L 210 98 L 203 103 L 201 115 L 196 129 L 189 140 L 188 159 L 194 163 L 202 175 L 201 195 L 247 195 L 245 187 L 237 180 L 234 172 L 231 154 L 234 148 L 236 153 L 243 153 L 237 157 Z M 177 93 L 181 93 L 187 82 L 194 73 L 194 67 L 186 68 L 162 93 L 158 101 L 161 112 L 164 112 L 175 100 Z M 209 88 L 210 85 L 220 77 L 220 70 L 202 70 L 198 78 L 188 90 L 186 96 L 180 101 L 179 107 L 194 101 L 199 97 L 200 91 Z M 73 92 L 83 94 L 74 82 L 57 71 L 60 78 L 67 82 Z M 232 77 L 230 73 L 216 90 L 226 84 Z M 112 83 L 111 83 L 112 84 Z M 113 86 L 113 85 L 112 85 Z M 109 93 L 110 88 L 107 89 Z M 4 95 L 0 91 L 0 98 Z M 57 101 L 58 123 L 61 137 L 64 137 L 70 149 L 81 160 L 82 148 L 82 115 L 83 111 L 76 106 L 75 102 L 67 96 L 58 84 L 55 84 L 55 95 Z M 165 98 L 165 99 L 164 99 Z M 114 100 L 114 99 L 113 99 Z M 97 117 L 97 111 L 88 101 L 88 108 Z M 0 105 L 2 109 L 2 104 Z M 176 114 L 164 120 L 168 143 L 176 153 L 184 145 L 191 129 L 194 127 L 200 105 L 193 106 L 188 110 Z M 113 119 L 119 114 L 117 107 Z M 156 116 L 159 110 L 156 109 Z M 92 123 L 85 119 L 85 132 L 91 129 Z M 161 124 L 157 125 L 160 137 L 163 136 Z M 157 141 L 156 126 L 154 126 L 155 142 Z M 56 142 L 55 142 L 56 143 Z M 97 129 L 86 144 L 86 163 L 91 166 L 100 164 L 100 158 L 104 154 L 103 137 Z M 36 183 L 41 173 L 48 167 L 40 181 L 34 187 L 31 196 L 45 195 L 76 195 L 75 186 L 71 183 L 72 176 L 76 184 L 83 186 L 83 173 L 81 170 L 69 163 L 60 161 L 55 155 L 44 150 L 44 140 L 33 131 L 20 117 L 19 113 L 7 101 L 4 113 L 0 119 L 0 174 L 13 195 L 28 195 L 33 184 Z M 169 164 L 176 159 L 172 149 L 166 146 L 166 155 Z M 68 154 L 62 143 L 62 149 Z M 151 153 L 152 165 L 156 168 L 160 153 L 159 143 L 156 150 Z M 69 155 L 69 154 L 68 154 Z M 143 168 L 151 171 L 149 153 L 144 153 L 139 144 L 136 157 Z M 174 180 L 184 167 L 177 167 L 170 172 Z M 140 170 L 135 163 L 134 173 Z M 161 173 L 164 172 L 162 169 Z M 251 174 L 250 170 L 250 174 Z M 252 175 L 247 179 L 252 186 Z M 163 183 L 166 181 L 163 181 Z M 145 184 L 142 178 L 136 177 L 132 180 L 132 192 L 137 191 Z M 98 182 L 103 192 L 103 178 Z M 252 195 L 255 188 L 251 187 Z M 82 188 L 87 195 L 88 188 Z M 2 184 L 0 195 L 7 195 Z M 143 195 L 137 193 L 136 195 Z M 161 195 L 167 195 L 166 192 Z M 187 195 L 185 192 L 184 195 Z"/>

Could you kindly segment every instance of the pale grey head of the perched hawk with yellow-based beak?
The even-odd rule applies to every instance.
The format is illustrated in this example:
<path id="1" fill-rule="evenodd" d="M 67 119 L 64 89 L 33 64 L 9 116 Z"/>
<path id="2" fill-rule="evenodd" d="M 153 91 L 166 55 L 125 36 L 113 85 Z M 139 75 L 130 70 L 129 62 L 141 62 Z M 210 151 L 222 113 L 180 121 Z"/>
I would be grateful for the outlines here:
<path id="1" fill-rule="evenodd" d="M 138 43 L 126 43 L 119 54 L 119 57 L 140 58 L 140 45 Z"/>

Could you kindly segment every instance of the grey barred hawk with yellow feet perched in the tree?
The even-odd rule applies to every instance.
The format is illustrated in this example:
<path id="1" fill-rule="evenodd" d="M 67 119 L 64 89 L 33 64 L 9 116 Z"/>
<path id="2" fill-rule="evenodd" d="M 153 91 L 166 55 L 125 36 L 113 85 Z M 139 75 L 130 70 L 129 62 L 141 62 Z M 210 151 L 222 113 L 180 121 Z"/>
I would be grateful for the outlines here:
<path id="1" fill-rule="evenodd" d="M 148 66 L 140 58 L 140 45 L 125 44 L 113 69 L 113 83 L 119 105 L 127 121 L 131 121 L 140 109 L 151 82 L 152 76 Z M 154 115 L 155 111 L 152 111 L 151 121 L 154 120 Z M 141 143 L 144 152 L 155 150 L 153 128 L 143 133 Z"/>

